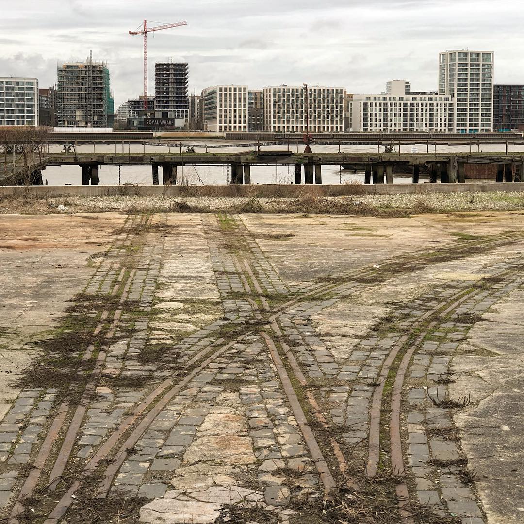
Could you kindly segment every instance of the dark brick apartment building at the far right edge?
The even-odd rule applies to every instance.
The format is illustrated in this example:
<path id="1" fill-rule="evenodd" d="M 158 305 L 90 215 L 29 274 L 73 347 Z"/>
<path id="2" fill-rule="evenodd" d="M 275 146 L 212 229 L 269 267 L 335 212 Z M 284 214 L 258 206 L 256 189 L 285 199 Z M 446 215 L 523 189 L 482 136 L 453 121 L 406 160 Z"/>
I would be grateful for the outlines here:
<path id="1" fill-rule="evenodd" d="M 493 130 L 524 131 L 524 85 L 495 85 Z"/>

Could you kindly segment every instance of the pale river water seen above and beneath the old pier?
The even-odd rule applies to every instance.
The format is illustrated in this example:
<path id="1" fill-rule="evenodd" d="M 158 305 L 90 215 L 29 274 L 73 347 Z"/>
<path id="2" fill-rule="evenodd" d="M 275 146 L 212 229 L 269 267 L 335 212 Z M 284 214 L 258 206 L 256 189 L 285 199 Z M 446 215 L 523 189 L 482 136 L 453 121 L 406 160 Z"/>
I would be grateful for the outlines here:
<path id="1" fill-rule="evenodd" d="M 205 152 L 205 144 L 195 140 L 187 140 L 187 143 L 192 145 L 199 145 L 202 148 L 195 148 L 196 152 Z M 213 145 L 221 144 L 219 141 L 213 141 Z M 224 144 L 226 144 L 224 142 Z M 291 151 L 297 151 L 296 144 L 290 145 Z M 480 151 L 483 152 L 504 152 L 505 144 L 481 144 Z M 299 144 L 298 150 L 303 151 L 304 145 Z M 398 152 L 398 145 L 395 146 Z M 286 150 L 287 145 L 280 146 L 263 146 L 262 150 Z M 319 154 L 322 152 L 338 152 L 338 145 L 315 145 L 311 146 L 314 153 Z M 60 145 L 50 146 L 50 152 L 60 152 L 63 147 Z M 228 148 L 213 148 L 209 149 L 209 152 L 241 152 L 248 151 L 249 148 L 243 148 L 242 144 L 238 147 Z M 351 145 L 341 146 L 342 152 L 368 152 L 370 155 L 376 154 L 378 148 L 373 144 L 366 145 Z M 427 143 L 413 143 L 413 144 L 402 144 L 400 148 L 401 152 L 419 152 L 420 154 L 426 154 L 428 151 L 431 152 L 470 152 L 470 145 L 439 145 L 436 146 Z M 78 152 L 93 152 L 93 146 L 84 145 L 78 146 Z M 115 146 L 113 145 L 96 145 L 94 151 L 97 153 L 110 153 L 115 152 Z M 124 152 L 131 154 L 143 154 L 144 146 L 139 144 L 131 144 L 130 146 L 124 145 Z M 178 152 L 177 147 L 171 146 L 171 152 Z M 477 145 L 473 144 L 472 151 L 477 152 Z M 520 152 L 524 155 L 524 145 L 509 145 L 509 152 Z M 123 146 L 117 145 L 116 152 L 122 153 Z M 146 153 L 163 152 L 168 153 L 168 146 L 146 146 Z M 380 152 L 384 152 L 384 146 L 380 147 Z M 101 166 L 100 167 L 100 184 L 101 185 L 114 185 L 114 184 L 137 184 L 137 185 L 149 185 L 152 183 L 151 167 L 150 166 L 122 166 L 120 169 L 118 166 Z M 48 185 L 81 185 L 82 183 L 82 172 L 79 166 L 62 166 L 62 167 L 48 167 L 45 171 L 42 171 L 42 176 L 47 180 Z M 185 183 L 198 184 L 198 185 L 223 185 L 227 184 L 230 179 L 229 169 L 224 167 L 207 167 L 207 166 L 183 166 L 178 168 L 177 172 L 178 182 L 182 180 Z M 162 180 L 162 170 L 159 169 L 160 182 Z M 253 166 L 251 168 L 251 181 L 253 184 L 290 184 L 294 181 L 294 166 Z M 302 172 L 303 181 L 303 172 Z M 353 171 L 342 169 L 338 166 L 322 166 L 322 183 L 324 184 L 340 184 L 347 183 L 350 181 L 361 181 L 364 182 L 364 172 Z M 428 177 L 420 176 L 420 183 L 428 181 Z M 394 175 L 395 183 L 411 183 L 411 176 L 403 174 Z M 488 180 L 482 180 L 482 182 L 488 182 Z"/>

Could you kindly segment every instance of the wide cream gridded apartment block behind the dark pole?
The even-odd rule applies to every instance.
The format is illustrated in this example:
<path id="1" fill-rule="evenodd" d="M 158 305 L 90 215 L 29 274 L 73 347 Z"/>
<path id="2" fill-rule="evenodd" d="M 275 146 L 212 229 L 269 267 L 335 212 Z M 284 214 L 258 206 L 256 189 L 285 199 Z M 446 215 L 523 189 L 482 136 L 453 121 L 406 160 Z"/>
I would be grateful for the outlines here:
<path id="1" fill-rule="evenodd" d="M 344 131 L 344 88 L 308 87 L 310 133 Z M 303 133 L 305 88 L 280 85 L 264 88 L 264 128 L 269 132 Z"/>

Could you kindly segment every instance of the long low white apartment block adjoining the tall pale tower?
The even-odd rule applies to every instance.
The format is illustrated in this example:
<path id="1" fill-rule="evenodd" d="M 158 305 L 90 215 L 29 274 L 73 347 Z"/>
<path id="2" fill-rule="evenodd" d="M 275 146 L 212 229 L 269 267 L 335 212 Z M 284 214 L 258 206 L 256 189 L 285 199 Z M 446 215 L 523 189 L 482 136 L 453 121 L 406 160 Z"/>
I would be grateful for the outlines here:
<path id="1" fill-rule="evenodd" d="M 351 127 L 375 133 L 451 133 L 453 99 L 437 93 L 406 94 L 406 83 L 389 84 L 389 93 L 353 95 Z"/>

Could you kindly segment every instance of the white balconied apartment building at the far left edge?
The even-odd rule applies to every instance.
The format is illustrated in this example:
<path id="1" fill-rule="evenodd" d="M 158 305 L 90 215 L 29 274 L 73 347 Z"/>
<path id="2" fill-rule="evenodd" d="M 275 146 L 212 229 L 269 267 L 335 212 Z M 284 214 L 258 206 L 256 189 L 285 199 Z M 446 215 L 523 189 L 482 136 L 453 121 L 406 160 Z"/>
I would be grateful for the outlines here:
<path id="1" fill-rule="evenodd" d="M 38 125 L 38 79 L 0 77 L 0 126 Z"/>

